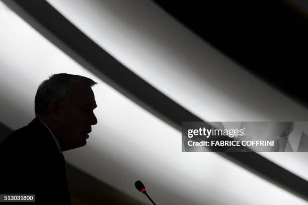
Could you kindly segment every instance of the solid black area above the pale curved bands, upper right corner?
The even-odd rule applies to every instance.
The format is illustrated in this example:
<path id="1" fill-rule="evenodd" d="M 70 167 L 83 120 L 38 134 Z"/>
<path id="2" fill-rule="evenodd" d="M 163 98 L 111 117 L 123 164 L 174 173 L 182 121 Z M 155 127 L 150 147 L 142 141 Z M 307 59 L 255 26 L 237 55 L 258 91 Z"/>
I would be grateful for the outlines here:
<path id="1" fill-rule="evenodd" d="M 248 71 L 308 107 L 308 16 L 288 1 L 153 0 Z"/>

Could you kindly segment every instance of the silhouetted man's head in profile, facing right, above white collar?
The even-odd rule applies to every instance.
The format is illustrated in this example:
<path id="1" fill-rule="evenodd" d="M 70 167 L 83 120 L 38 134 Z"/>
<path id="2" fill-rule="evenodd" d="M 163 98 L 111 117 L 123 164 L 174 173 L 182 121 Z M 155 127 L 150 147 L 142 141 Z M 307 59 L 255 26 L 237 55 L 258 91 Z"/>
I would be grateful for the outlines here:
<path id="1" fill-rule="evenodd" d="M 35 95 L 35 115 L 43 120 L 60 142 L 61 150 L 86 145 L 91 126 L 97 124 L 92 79 L 66 73 L 44 80 Z"/>

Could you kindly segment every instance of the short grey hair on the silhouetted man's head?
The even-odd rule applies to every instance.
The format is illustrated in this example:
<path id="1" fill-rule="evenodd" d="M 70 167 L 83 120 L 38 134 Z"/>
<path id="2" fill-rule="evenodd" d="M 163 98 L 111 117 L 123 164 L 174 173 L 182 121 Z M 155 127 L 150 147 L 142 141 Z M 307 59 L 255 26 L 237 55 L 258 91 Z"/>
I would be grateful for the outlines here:
<path id="1" fill-rule="evenodd" d="M 63 104 L 67 102 L 74 80 L 82 80 L 90 86 L 97 84 L 97 82 L 92 79 L 80 75 L 71 75 L 67 73 L 53 74 L 48 77 L 47 80 L 44 80 L 37 88 L 34 99 L 35 114 L 47 115 L 49 103 L 52 99 L 57 99 Z"/>

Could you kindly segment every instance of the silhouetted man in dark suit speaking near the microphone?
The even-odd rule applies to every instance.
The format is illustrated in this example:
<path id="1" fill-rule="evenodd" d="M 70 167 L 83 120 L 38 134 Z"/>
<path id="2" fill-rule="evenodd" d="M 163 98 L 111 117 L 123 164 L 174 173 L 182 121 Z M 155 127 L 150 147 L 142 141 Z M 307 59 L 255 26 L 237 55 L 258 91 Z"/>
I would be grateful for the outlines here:
<path id="1" fill-rule="evenodd" d="M 70 204 L 62 151 L 86 145 L 97 124 L 94 84 L 66 73 L 40 84 L 36 118 L 0 144 L 0 194 L 35 194 L 36 204 Z"/>

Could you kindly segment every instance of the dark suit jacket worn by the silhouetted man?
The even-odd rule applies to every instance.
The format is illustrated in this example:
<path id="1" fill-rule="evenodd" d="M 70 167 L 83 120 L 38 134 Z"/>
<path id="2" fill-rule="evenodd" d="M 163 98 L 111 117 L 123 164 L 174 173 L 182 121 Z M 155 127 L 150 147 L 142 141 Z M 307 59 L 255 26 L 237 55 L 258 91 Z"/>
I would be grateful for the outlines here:
<path id="1" fill-rule="evenodd" d="M 2 141 L 0 163 L 0 194 L 35 194 L 29 204 L 70 204 L 63 154 L 40 120 Z"/>

